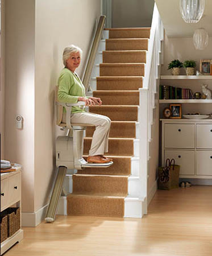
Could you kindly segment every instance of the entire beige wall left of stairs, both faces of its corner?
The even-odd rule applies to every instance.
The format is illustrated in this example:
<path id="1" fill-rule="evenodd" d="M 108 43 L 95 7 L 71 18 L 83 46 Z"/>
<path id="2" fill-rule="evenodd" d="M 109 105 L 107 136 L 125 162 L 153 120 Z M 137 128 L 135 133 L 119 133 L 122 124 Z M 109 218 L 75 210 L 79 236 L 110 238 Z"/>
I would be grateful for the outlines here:
<path id="1" fill-rule="evenodd" d="M 6 1 L 5 158 L 23 165 L 22 210 L 36 212 L 48 203 L 55 176 L 54 90 L 68 44 L 84 51 L 92 41 L 99 0 Z M 16 114 L 24 119 L 15 127 Z"/>

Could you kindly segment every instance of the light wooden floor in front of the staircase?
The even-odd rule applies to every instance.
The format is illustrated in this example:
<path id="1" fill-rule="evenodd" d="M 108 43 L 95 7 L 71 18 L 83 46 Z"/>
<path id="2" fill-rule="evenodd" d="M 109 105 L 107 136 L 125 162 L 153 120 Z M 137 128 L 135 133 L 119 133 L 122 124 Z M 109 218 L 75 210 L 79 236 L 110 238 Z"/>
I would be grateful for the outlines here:
<path id="1" fill-rule="evenodd" d="M 211 256 L 212 186 L 157 191 L 142 219 L 57 216 L 6 256 Z"/>

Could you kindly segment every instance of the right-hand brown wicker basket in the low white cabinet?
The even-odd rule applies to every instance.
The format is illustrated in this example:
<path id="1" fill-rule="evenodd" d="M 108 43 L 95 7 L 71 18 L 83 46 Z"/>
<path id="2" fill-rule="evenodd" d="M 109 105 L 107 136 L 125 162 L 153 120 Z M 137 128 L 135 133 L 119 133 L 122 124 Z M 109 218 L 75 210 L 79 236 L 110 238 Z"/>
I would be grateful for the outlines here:
<path id="1" fill-rule="evenodd" d="M 20 208 L 7 208 L 8 236 L 11 237 L 20 229 Z"/>

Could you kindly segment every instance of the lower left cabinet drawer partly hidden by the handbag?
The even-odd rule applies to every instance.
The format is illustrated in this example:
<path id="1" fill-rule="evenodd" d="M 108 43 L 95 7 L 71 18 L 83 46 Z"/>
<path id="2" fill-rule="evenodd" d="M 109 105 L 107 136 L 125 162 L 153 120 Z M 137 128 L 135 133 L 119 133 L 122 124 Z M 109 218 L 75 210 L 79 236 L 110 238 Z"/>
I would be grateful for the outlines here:
<path id="1" fill-rule="evenodd" d="M 180 166 L 180 175 L 194 175 L 194 151 L 165 150 L 164 161 L 167 158 L 170 160 L 173 158 L 175 164 Z"/>

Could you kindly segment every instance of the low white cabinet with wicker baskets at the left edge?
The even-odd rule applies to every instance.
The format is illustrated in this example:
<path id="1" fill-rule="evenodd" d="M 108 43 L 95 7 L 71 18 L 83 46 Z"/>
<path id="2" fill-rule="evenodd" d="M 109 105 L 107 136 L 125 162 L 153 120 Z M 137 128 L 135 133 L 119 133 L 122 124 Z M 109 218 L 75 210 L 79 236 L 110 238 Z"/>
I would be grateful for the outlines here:
<path id="1" fill-rule="evenodd" d="M 6 172 L 1 174 L 1 212 L 9 207 L 14 207 L 14 205 L 15 207 L 21 207 L 21 172 L 20 167 L 15 168 L 15 172 Z M 22 239 L 23 230 L 20 228 L 15 234 L 13 234 L 13 236 L 7 238 L 1 243 L 1 255 Z"/>

